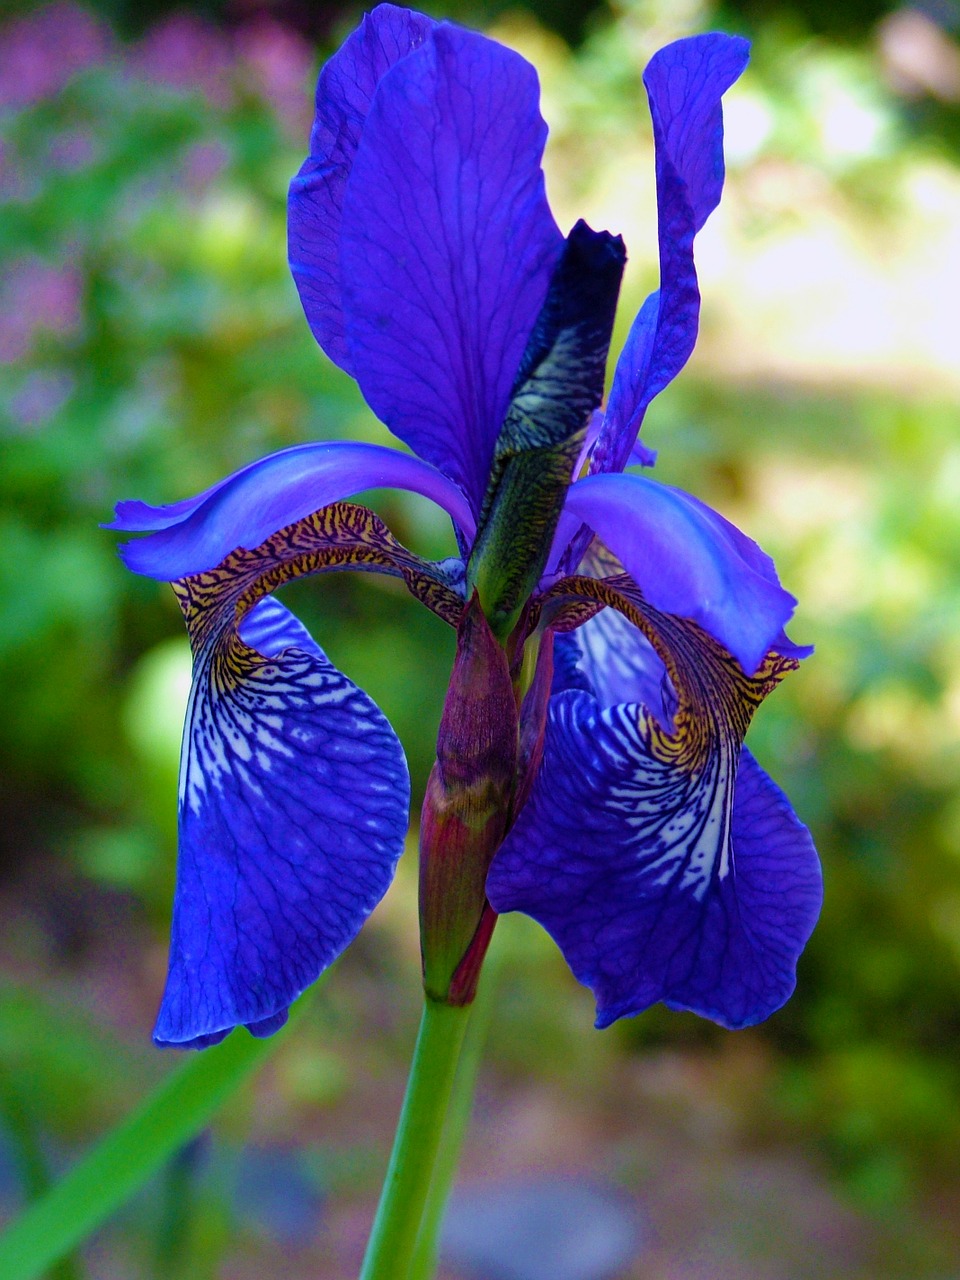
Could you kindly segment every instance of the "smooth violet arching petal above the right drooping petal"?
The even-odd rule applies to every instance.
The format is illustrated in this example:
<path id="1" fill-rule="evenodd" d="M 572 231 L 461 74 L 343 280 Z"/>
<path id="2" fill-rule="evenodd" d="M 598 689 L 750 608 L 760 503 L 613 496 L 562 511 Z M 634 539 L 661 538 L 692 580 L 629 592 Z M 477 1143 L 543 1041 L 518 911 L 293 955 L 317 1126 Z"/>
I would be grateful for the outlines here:
<path id="1" fill-rule="evenodd" d="M 796 600 L 773 561 L 690 494 L 646 476 L 588 476 L 564 513 L 603 539 L 654 608 L 699 622 L 748 675 L 781 637 Z"/>

